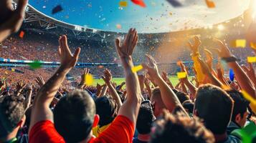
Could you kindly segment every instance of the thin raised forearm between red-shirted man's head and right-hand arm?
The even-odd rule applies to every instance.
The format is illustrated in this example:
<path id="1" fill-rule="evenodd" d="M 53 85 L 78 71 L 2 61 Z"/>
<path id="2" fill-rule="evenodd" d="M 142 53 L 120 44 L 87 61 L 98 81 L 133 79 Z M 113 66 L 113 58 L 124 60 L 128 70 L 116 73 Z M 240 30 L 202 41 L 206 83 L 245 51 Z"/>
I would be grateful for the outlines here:
<path id="1" fill-rule="evenodd" d="M 115 100 L 115 103 L 118 105 L 118 110 L 119 110 L 120 107 L 122 106 L 122 101 L 118 95 L 118 92 L 116 92 L 115 88 L 111 84 L 112 74 L 111 74 L 110 70 L 105 69 L 104 76 L 101 76 L 101 77 L 103 77 L 105 84 L 108 86 L 110 95 Z"/>

